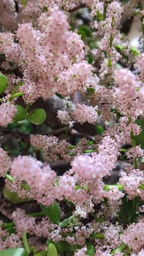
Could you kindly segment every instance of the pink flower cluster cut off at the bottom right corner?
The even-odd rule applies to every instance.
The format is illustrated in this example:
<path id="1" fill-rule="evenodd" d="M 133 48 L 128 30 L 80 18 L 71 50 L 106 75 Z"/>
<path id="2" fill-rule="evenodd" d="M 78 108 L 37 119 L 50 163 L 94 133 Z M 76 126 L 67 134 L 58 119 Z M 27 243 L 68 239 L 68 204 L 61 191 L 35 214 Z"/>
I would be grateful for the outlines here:
<path id="1" fill-rule="evenodd" d="M 132 223 L 121 235 L 121 240 L 127 244 L 133 252 L 140 252 L 144 246 L 144 222 Z"/>

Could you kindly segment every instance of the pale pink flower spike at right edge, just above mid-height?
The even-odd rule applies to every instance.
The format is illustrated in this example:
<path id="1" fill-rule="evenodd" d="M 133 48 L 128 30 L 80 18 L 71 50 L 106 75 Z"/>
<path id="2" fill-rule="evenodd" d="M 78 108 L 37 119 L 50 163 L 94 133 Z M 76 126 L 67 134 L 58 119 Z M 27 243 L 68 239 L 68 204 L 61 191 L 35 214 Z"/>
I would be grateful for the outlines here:
<path id="1" fill-rule="evenodd" d="M 129 69 L 115 71 L 115 99 L 118 102 L 118 110 L 125 116 L 137 118 L 144 112 L 143 90 L 140 80 Z"/>

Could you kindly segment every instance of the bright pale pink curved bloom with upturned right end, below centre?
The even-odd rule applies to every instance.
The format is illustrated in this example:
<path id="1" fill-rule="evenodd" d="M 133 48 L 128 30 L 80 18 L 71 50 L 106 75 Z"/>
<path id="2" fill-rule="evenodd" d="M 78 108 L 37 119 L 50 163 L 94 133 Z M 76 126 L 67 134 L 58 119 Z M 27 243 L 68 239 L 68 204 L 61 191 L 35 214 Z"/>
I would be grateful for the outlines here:
<path id="1" fill-rule="evenodd" d="M 84 180 L 105 176 L 115 167 L 118 154 L 117 143 L 107 136 L 99 146 L 99 154 L 93 153 L 92 157 L 87 155 L 75 157 L 72 170 L 76 176 Z"/>

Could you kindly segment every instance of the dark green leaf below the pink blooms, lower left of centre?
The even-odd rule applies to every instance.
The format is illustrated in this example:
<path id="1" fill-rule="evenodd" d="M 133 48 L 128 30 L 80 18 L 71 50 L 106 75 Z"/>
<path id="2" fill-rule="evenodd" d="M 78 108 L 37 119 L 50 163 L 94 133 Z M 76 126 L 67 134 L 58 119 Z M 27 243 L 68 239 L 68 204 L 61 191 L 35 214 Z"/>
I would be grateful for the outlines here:
<path id="1" fill-rule="evenodd" d="M 45 215 L 47 215 L 50 218 L 50 221 L 59 224 L 61 221 L 61 211 L 59 209 L 58 203 L 53 203 L 53 205 L 45 207 L 40 206 L 41 210 L 45 212 Z"/>

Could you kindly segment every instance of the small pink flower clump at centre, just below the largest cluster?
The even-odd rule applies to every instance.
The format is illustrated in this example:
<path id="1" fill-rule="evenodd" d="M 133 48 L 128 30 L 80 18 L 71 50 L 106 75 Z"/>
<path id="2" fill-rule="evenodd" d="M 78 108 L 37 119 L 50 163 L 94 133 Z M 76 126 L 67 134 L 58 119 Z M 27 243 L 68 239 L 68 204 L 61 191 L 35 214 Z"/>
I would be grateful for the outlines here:
<path id="1" fill-rule="evenodd" d="M 72 111 L 72 118 L 79 122 L 80 124 L 83 124 L 85 122 L 88 122 L 90 124 L 96 123 L 97 120 L 97 106 L 91 107 L 86 105 L 80 105 L 77 104 L 77 109 L 75 111 Z"/>

